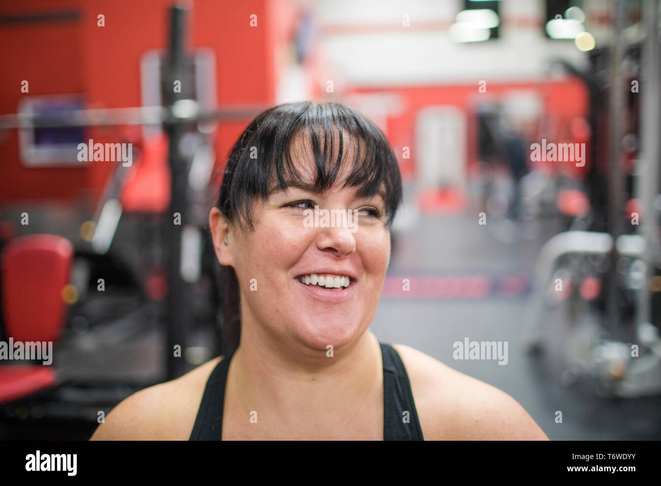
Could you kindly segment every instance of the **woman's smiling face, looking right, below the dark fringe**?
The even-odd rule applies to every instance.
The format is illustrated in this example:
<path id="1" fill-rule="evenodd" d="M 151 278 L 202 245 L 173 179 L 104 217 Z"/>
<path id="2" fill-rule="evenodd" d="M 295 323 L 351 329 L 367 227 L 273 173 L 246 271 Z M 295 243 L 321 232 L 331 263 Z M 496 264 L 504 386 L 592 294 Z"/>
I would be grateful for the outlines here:
<path id="1" fill-rule="evenodd" d="M 299 170 L 306 167 L 305 161 L 293 160 Z M 390 235 L 383 197 L 359 198 L 356 188 L 340 188 L 347 174 L 348 167 L 342 167 L 336 184 L 321 194 L 305 186 L 311 186 L 311 174 L 303 184 L 276 190 L 265 203 L 254 202 L 253 232 L 229 233 L 224 245 L 229 251 L 221 251 L 220 260 L 239 278 L 243 333 L 254 326 L 275 339 L 326 350 L 328 344 L 353 343 L 368 329 L 389 263 Z M 318 223 L 308 216 L 315 205 Z M 325 222 L 323 210 L 335 217 Z M 352 213 L 354 221 L 341 222 L 340 213 L 331 210 Z M 217 247 L 223 237 L 214 235 L 214 240 Z M 329 277 L 340 287 L 327 288 Z"/>

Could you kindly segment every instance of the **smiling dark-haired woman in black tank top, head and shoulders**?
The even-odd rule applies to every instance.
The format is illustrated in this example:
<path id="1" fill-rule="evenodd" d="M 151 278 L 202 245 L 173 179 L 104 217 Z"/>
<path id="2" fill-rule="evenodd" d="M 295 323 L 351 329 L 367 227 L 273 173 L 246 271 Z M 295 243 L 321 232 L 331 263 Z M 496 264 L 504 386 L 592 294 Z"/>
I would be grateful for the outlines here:
<path id="1" fill-rule="evenodd" d="M 369 331 L 400 200 L 397 159 L 358 112 L 257 116 L 209 215 L 224 358 L 128 397 L 93 439 L 547 440 L 503 391 Z"/>

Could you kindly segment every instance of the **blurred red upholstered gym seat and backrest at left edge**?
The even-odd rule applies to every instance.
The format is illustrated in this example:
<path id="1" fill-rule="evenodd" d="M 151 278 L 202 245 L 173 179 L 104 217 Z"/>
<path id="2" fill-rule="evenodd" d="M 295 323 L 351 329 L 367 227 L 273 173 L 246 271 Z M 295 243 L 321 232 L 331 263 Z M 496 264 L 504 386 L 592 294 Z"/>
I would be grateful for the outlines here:
<path id="1" fill-rule="evenodd" d="M 56 343 L 64 326 L 62 289 L 71 274 L 71 243 L 56 235 L 17 237 L 7 243 L 1 261 L 7 338 Z M 55 382 L 56 372 L 50 366 L 0 361 L 0 403 L 26 397 Z"/>

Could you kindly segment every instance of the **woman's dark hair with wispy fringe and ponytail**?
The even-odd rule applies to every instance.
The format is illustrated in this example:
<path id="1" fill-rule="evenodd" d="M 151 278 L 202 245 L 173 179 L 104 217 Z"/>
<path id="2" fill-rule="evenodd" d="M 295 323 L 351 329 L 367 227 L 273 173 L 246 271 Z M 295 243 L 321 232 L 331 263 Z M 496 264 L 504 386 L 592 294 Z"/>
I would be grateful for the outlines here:
<path id="1" fill-rule="evenodd" d="M 348 159 L 348 148 L 352 149 L 352 169 L 342 187 L 358 188 L 359 197 L 373 196 L 385 189 L 385 217 L 390 227 L 402 199 L 395 153 L 373 122 L 336 102 L 284 103 L 254 118 L 227 159 L 217 201 L 223 216 L 241 229 L 253 231 L 254 200 L 265 201 L 272 190 L 286 190 L 288 182 L 301 180 L 291 155 L 292 142 L 299 135 L 305 135 L 311 143 L 316 165 L 314 184 L 319 192 L 334 185 L 342 158 Z M 241 337 L 239 282 L 231 266 L 221 266 L 219 278 L 221 349 L 223 354 L 230 354 L 239 346 Z"/>

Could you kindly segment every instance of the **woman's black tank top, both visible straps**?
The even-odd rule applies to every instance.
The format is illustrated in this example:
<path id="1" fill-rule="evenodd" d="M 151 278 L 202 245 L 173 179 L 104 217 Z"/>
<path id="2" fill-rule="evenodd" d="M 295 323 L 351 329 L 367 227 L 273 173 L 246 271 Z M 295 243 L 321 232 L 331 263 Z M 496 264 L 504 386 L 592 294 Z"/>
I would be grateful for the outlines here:
<path id="1" fill-rule="evenodd" d="M 424 440 L 404 363 L 393 346 L 379 344 L 383 356 L 383 440 Z M 225 380 L 232 356 L 220 360 L 209 376 L 189 440 L 221 440 Z"/>

